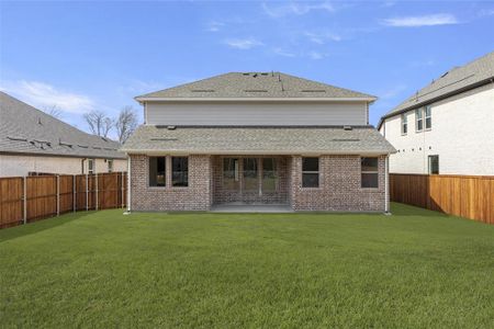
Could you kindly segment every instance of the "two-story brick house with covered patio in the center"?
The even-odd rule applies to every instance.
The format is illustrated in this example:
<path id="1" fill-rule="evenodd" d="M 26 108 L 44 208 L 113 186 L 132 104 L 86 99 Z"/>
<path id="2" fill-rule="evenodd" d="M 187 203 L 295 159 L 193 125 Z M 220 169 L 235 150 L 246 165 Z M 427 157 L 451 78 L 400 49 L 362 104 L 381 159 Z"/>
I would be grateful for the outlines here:
<path id="1" fill-rule="evenodd" d="M 278 72 L 232 72 L 136 100 L 130 209 L 388 211 L 386 157 L 368 124 L 375 98 Z"/>

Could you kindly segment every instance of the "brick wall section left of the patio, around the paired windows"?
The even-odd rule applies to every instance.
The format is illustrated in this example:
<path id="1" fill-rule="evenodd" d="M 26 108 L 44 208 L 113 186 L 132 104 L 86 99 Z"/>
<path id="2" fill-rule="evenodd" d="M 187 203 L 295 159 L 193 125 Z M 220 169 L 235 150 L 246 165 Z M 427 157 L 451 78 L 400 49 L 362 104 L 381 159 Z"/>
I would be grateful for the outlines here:
<path id="1" fill-rule="evenodd" d="M 147 156 L 131 156 L 131 211 L 209 211 L 211 157 L 189 156 L 189 186 L 171 186 L 171 157 L 167 157 L 167 186 L 149 186 Z"/>

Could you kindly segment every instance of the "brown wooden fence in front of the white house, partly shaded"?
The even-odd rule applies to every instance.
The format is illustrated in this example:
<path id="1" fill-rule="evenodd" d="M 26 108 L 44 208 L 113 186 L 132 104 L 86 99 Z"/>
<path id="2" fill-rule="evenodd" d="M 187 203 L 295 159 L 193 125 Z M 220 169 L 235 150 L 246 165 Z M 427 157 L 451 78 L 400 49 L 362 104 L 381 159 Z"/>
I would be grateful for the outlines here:
<path id="1" fill-rule="evenodd" d="M 494 177 L 390 174 L 391 201 L 494 224 Z"/>

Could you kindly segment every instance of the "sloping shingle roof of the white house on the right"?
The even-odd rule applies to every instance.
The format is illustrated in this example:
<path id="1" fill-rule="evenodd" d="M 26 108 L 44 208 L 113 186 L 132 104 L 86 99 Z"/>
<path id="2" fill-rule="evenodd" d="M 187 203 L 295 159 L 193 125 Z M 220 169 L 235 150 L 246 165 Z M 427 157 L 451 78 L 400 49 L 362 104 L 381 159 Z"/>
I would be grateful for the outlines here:
<path id="1" fill-rule="evenodd" d="M 388 112 L 381 118 L 378 126 L 380 127 L 382 121 L 386 117 L 493 82 L 493 79 L 494 52 L 462 67 L 454 67 L 447 71 L 437 80 L 434 80 L 430 84 L 420 89 L 403 103 Z"/>

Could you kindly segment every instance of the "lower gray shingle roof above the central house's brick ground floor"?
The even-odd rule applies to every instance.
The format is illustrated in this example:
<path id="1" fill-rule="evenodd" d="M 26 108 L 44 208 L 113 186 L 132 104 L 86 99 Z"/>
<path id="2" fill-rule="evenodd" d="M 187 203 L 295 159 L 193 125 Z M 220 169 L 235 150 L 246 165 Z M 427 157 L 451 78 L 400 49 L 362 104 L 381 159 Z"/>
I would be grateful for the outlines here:
<path id="1" fill-rule="evenodd" d="M 372 126 L 238 127 L 204 126 L 168 129 L 143 125 L 127 139 L 123 151 L 186 154 L 379 154 L 395 149 Z"/>

